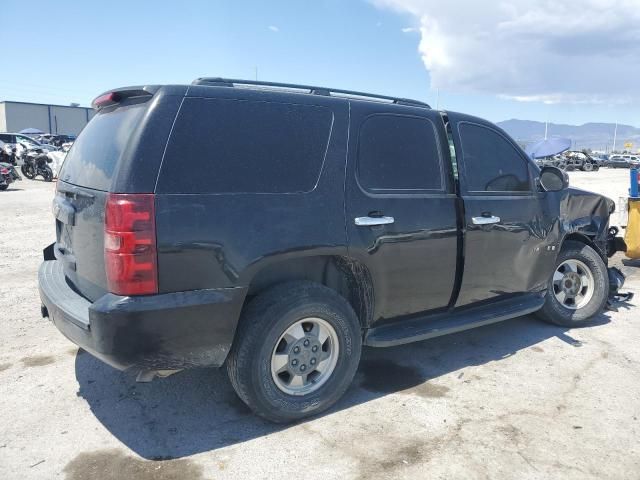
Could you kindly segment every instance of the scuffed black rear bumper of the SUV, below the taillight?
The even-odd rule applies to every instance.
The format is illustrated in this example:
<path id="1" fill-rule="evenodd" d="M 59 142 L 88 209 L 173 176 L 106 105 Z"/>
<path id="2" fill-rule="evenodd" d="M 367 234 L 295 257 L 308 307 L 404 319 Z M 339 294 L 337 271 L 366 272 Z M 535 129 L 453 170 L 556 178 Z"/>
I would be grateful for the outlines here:
<path id="1" fill-rule="evenodd" d="M 246 295 L 245 288 L 140 297 L 107 293 L 92 303 L 69 286 L 57 260 L 40 265 L 38 283 L 42 315 L 120 370 L 222 365 Z"/>

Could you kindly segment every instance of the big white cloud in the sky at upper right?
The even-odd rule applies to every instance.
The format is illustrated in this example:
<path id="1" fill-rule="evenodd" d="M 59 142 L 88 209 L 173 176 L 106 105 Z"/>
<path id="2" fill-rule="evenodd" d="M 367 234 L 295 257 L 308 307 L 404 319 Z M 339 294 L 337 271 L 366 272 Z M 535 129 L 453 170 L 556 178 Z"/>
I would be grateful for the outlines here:
<path id="1" fill-rule="evenodd" d="M 371 1 L 419 21 L 433 88 L 547 103 L 640 100 L 640 0 Z"/>

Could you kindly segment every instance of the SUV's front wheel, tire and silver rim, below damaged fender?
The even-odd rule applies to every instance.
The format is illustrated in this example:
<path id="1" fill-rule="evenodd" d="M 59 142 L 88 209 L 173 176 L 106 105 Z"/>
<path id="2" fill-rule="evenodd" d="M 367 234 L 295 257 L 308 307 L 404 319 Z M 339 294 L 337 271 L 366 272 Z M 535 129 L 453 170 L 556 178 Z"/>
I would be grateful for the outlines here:
<path id="1" fill-rule="evenodd" d="M 572 266 L 577 267 L 577 277 Z M 576 281 L 578 278 L 582 280 Z M 568 285 L 571 285 L 571 291 L 567 294 L 563 287 Z M 571 295 L 576 291 L 578 293 L 572 299 Z M 608 297 L 609 274 L 600 255 L 589 245 L 567 241 L 556 260 L 546 300 L 538 316 L 555 325 L 578 327 L 602 312 Z"/>

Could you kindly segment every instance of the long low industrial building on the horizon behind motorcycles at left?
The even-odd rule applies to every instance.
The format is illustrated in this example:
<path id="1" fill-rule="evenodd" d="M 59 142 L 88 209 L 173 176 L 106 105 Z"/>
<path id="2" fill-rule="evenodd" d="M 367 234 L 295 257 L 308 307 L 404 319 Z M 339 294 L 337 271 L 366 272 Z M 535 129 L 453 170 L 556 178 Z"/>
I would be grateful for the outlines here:
<path id="1" fill-rule="evenodd" d="M 94 114 L 75 105 L 0 101 L 0 132 L 37 128 L 45 133 L 77 135 Z"/>

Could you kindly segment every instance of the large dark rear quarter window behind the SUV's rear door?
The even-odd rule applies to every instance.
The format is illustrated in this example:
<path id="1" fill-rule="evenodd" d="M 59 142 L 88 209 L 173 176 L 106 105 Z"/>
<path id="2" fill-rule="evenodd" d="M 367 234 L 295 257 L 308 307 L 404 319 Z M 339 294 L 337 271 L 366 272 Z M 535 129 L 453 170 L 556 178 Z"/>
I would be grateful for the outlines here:
<path id="1" fill-rule="evenodd" d="M 185 99 L 158 182 L 163 193 L 294 193 L 314 189 L 333 113 L 289 103 Z"/>

